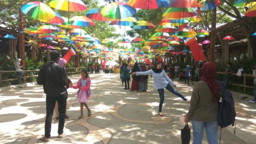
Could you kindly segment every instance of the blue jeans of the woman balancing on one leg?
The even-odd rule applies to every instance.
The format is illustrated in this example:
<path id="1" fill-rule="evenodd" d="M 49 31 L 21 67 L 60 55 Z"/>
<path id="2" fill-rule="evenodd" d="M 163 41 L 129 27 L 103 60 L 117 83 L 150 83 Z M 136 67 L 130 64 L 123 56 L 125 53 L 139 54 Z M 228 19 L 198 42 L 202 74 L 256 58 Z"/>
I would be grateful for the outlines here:
<path id="1" fill-rule="evenodd" d="M 175 94 L 176 96 L 182 98 L 184 101 L 186 101 L 187 99 L 182 96 L 182 94 L 180 94 L 177 90 L 175 90 L 170 83 L 167 84 L 166 89 L 168 91 L 171 91 L 173 94 Z M 164 103 L 164 89 L 157 89 L 159 96 L 160 96 L 160 102 L 159 102 L 159 112 L 162 112 L 162 106 Z"/>

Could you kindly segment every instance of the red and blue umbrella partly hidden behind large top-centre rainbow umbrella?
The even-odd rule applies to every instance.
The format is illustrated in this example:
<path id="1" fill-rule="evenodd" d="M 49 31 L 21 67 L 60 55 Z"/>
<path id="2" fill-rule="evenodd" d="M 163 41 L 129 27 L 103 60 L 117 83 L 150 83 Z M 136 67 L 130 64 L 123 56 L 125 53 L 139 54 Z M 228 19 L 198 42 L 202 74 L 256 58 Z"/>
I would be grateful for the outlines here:
<path id="1" fill-rule="evenodd" d="M 111 21 L 112 19 L 104 17 L 100 12 L 102 8 L 94 8 L 86 12 L 86 17 L 96 21 Z"/>

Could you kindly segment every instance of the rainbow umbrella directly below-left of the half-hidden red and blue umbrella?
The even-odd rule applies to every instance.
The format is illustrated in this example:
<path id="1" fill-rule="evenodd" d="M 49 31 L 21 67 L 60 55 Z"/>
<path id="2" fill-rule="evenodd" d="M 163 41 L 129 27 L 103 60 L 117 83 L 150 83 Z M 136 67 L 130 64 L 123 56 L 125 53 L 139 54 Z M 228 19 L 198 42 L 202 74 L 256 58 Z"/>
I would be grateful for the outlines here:
<path id="1" fill-rule="evenodd" d="M 75 16 L 75 17 L 72 17 L 70 18 L 70 21 L 69 23 L 71 25 L 76 25 L 76 26 L 83 26 L 83 27 L 88 27 L 88 26 L 94 26 L 94 22 L 85 17 L 85 16 Z"/>

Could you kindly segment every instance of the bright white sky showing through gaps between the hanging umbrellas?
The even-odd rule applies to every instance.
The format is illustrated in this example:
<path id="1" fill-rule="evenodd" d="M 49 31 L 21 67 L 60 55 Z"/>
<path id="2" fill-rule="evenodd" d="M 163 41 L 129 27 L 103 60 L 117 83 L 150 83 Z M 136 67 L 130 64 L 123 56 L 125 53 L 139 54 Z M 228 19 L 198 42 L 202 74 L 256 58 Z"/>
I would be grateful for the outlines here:
<path id="1" fill-rule="evenodd" d="M 104 0 L 97 0 L 98 1 L 98 6 L 105 6 L 106 4 L 108 4 L 108 3 L 106 3 Z M 129 26 L 125 26 L 125 28 L 124 28 L 124 26 L 121 26 L 121 29 L 120 29 L 120 26 L 119 25 L 114 25 L 114 27 L 115 27 L 115 29 L 116 29 L 116 32 L 115 33 L 120 33 L 121 35 L 123 35 L 124 36 L 124 30 L 130 30 L 131 28 L 129 27 Z M 134 39 L 134 38 L 132 38 L 132 37 L 130 37 L 130 36 L 125 36 L 125 37 L 119 37 L 118 39 L 121 39 L 121 38 L 127 38 L 127 39 L 129 39 L 129 40 L 132 40 L 132 39 Z M 117 41 L 118 39 L 116 39 L 115 41 Z M 130 43 L 125 43 L 125 44 L 119 44 L 120 46 L 123 46 L 124 45 L 124 47 L 129 47 L 129 48 L 131 48 L 131 44 Z"/>

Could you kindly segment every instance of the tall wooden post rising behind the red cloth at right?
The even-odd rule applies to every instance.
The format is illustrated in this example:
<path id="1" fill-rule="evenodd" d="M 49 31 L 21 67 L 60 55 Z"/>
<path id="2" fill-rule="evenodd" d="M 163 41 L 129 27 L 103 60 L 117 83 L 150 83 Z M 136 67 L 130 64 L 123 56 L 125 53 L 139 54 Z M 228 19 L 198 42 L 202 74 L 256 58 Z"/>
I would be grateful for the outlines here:
<path id="1" fill-rule="evenodd" d="M 215 62 L 215 34 L 216 34 L 216 15 L 217 15 L 217 8 L 214 8 L 211 12 L 211 44 L 209 49 L 209 61 Z"/>

